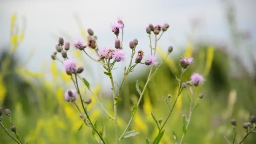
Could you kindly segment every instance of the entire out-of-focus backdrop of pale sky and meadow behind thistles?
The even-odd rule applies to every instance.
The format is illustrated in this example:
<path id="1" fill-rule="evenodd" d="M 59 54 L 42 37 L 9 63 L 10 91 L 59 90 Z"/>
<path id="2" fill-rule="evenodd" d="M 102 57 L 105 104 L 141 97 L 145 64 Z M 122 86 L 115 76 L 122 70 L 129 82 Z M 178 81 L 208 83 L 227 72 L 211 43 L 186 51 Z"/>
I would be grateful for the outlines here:
<path id="1" fill-rule="evenodd" d="M 206 81 L 196 91 L 204 93 L 184 143 L 222 144 L 232 141 L 230 120 L 237 120 L 237 142 L 245 135 L 242 124 L 256 115 L 256 17 L 254 0 L 0 0 L 0 107 L 9 108 L 23 141 L 31 144 L 96 143 L 91 130 L 79 117 L 79 112 L 64 101 L 64 91 L 74 88 L 64 67 L 50 57 L 59 37 L 73 43 L 86 43 L 86 29 L 92 28 L 101 47 L 113 47 L 115 35 L 109 24 L 119 16 L 125 23 L 124 50 L 129 58 L 128 44 L 139 40 L 138 48 L 149 56 L 149 39 L 145 28 L 149 23 L 170 24 L 158 43 L 157 59 L 165 56 L 169 45 L 174 51 L 151 80 L 144 99 L 131 125 L 139 136 L 123 139 L 124 144 L 141 144 L 145 138 L 154 139 L 157 127 L 151 117 L 165 119 L 168 105 L 163 97 L 176 95 L 180 75 L 179 59 L 192 56 L 184 80 L 193 72 L 204 75 Z M 87 50 L 93 56 L 93 51 Z M 111 89 L 103 68 L 80 51 L 71 49 L 70 57 L 85 67 L 83 77 L 91 84 L 112 113 Z M 118 64 L 115 81 L 120 83 L 128 60 Z M 139 65 L 128 76 L 118 105 L 120 131 L 123 131 L 136 104 L 135 82 L 143 86 L 149 67 Z M 81 85 L 83 85 L 81 83 Z M 83 93 L 86 93 L 83 85 Z M 85 94 L 91 97 L 90 93 Z M 93 97 L 92 97 L 93 98 Z M 88 106 L 92 120 L 104 121 L 105 135 L 113 141 L 113 122 L 101 111 L 93 99 Z M 165 126 L 162 144 L 174 143 L 173 131 L 182 136 L 182 115 L 188 115 L 186 93 L 179 98 L 170 120 Z M 2 121 L 11 127 L 5 116 Z M 82 125 L 82 127 L 81 127 Z M 256 142 L 248 136 L 246 144 Z M 11 139 L 0 133 L 0 143 Z"/>

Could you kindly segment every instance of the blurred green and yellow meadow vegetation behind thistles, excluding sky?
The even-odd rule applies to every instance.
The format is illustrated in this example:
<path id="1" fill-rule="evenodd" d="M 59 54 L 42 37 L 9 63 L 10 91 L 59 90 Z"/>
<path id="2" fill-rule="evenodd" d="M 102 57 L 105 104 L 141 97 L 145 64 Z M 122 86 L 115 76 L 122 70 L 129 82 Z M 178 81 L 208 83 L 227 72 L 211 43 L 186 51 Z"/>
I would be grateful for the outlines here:
<path id="1" fill-rule="evenodd" d="M 251 48 L 250 45 L 246 45 L 251 37 L 240 33 L 236 27 L 236 13 L 233 5 L 227 3 L 225 8 L 231 43 L 235 45 L 233 50 L 236 51 L 242 46 Z M 79 117 L 80 113 L 72 104 L 64 101 L 64 92 L 73 86 L 63 68 L 57 64 L 58 61 L 42 64 L 40 72 L 35 72 L 26 68 L 27 62 L 33 56 L 33 50 L 27 57 L 16 56 L 19 46 L 26 37 L 26 29 L 16 29 L 20 27 L 15 23 L 17 16 L 13 14 L 11 17 L 10 44 L 0 45 L 3 48 L 0 55 L 0 107 L 11 109 L 13 123 L 20 133 L 21 140 L 28 144 L 95 144 L 96 140 L 91 135 L 91 130 L 83 125 L 83 120 Z M 157 127 L 150 113 L 153 112 L 157 118 L 163 117 L 163 120 L 167 117 L 169 109 L 163 97 L 168 94 L 175 96 L 178 91 L 176 76 L 179 77 L 181 73 L 179 67 L 181 56 L 192 56 L 195 60 L 195 63 L 187 69 L 184 81 L 189 80 L 193 72 L 203 74 L 206 79 L 205 83 L 196 90 L 196 99 L 200 93 L 204 93 L 205 97 L 200 99 L 199 106 L 192 115 L 192 122 L 187 130 L 184 144 L 225 144 L 227 143 L 225 138 L 232 141 L 233 127 L 230 124 L 232 118 L 237 120 L 238 125 L 236 142 L 245 135 L 242 124 L 249 120 L 250 115 L 256 115 L 256 61 L 253 56 L 249 58 L 253 69 L 251 72 L 245 67 L 243 60 L 227 51 L 222 43 L 195 40 L 193 30 L 197 27 L 193 27 L 189 32 L 188 43 L 183 44 L 184 48 L 175 55 L 171 54 L 150 81 L 141 107 L 129 128 L 139 131 L 139 136 L 123 139 L 120 143 L 142 144 L 145 143 L 145 138 L 153 140 L 157 136 Z M 80 27 L 80 31 L 86 41 L 85 29 Z M 52 45 L 54 47 L 55 43 Z M 174 47 L 174 51 L 176 50 Z M 88 62 L 81 53 L 77 51 L 72 51 L 72 53 L 80 61 L 80 65 Z M 50 59 L 50 54 L 42 57 Z M 159 46 L 157 54 L 163 59 L 165 48 Z M 24 63 L 19 62 L 21 59 Z M 88 68 L 83 76 L 95 77 L 89 70 Z M 140 80 L 139 85 L 142 87 L 147 80 L 148 69 L 145 71 L 136 69 L 134 73 L 138 75 L 128 77 L 121 92 L 123 101 L 118 105 L 120 132 L 124 130 L 131 117 L 133 105 L 138 100 L 136 80 Z M 82 93 L 87 98 L 91 97 L 85 85 L 82 83 L 80 85 Z M 112 99 L 111 96 L 107 96 L 110 94 L 106 92 L 110 89 L 102 90 L 102 88 L 105 88 L 102 83 L 93 85 L 93 93 L 96 96 L 102 94 L 101 101 L 113 114 Z M 105 125 L 104 136 L 112 143 L 114 140 L 113 121 L 101 111 L 95 99 L 88 106 L 88 111 L 93 121 L 100 121 L 102 118 Z M 181 138 L 182 115 L 188 115 L 188 112 L 189 99 L 184 91 L 165 126 L 162 144 L 174 143 L 172 132 L 176 133 L 178 139 Z M 5 115 L 3 115 L 2 122 L 6 128 L 11 127 Z M 0 133 L 0 143 L 10 144 L 13 141 L 3 132 Z M 245 144 L 253 143 L 256 143 L 255 134 L 249 135 L 245 140 Z"/>

